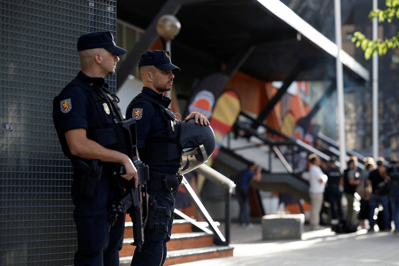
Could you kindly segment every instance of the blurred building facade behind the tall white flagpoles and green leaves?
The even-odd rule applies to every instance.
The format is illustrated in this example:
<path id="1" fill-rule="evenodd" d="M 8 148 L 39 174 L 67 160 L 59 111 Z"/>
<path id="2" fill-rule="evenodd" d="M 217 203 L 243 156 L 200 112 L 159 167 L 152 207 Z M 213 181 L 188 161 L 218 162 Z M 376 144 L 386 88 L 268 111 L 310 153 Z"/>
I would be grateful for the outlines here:
<path id="1" fill-rule="evenodd" d="M 301 18 L 335 41 L 334 31 L 334 0 L 281 0 Z M 378 7 L 385 10 L 385 0 L 378 1 Z M 355 47 L 351 39 L 353 33 L 360 31 L 367 37 L 372 36 L 372 22 L 368 18 L 372 10 L 372 1 L 346 0 L 341 1 L 342 12 L 342 48 L 356 61 L 366 67 L 371 73 L 372 59 L 365 60 L 364 52 Z M 383 22 L 378 26 L 378 37 L 381 39 L 397 35 L 399 20 L 393 19 L 392 23 Z M 385 158 L 399 155 L 399 96 L 396 93 L 399 85 L 397 71 L 399 64 L 396 56 L 399 49 L 388 50 L 386 55 L 379 57 L 379 150 Z M 333 71 L 335 71 L 333 69 Z M 335 75 L 335 74 L 334 74 Z M 366 87 L 358 87 L 348 79 L 344 79 L 345 90 L 345 117 L 346 117 L 346 143 L 348 148 L 358 151 L 363 156 L 371 156 L 372 151 L 372 99 L 371 83 Z M 312 93 L 311 95 L 317 95 Z M 312 98 L 312 100 L 316 100 Z M 338 127 L 335 132 L 331 123 L 331 114 L 335 113 L 336 92 L 332 93 L 328 103 L 316 115 L 315 121 L 322 127 L 320 132 L 337 139 Z M 338 121 L 336 121 L 338 124 Z"/>

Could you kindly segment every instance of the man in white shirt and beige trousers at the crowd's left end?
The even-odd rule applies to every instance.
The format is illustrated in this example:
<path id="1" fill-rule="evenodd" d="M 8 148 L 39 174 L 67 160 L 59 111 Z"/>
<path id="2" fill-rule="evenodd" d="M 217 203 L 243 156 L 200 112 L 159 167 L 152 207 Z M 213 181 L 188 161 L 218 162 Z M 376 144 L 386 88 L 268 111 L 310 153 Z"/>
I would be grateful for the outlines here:
<path id="1" fill-rule="evenodd" d="M 324 188 L 327 175 L 320 168 L 320 158 L 316 154 L 310 154 L 309 161 L 309 196 L 310 196 L 310 230 L 320 229 L 320 211 L 322 209 Z"/>

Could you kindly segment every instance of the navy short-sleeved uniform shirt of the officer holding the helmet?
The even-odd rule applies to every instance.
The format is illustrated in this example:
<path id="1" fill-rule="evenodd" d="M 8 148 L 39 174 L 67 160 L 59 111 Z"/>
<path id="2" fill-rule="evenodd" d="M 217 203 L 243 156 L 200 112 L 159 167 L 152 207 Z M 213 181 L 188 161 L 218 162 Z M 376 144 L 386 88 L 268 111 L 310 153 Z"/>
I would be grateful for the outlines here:
<path id="1" fill-rule="evenodd" d="M 143 87 L 142 91 L 147 97 L 149 96 L 152 100 L 160 103 L 162 106 L 167 108 L 172 101 L 163 94 L 156 93 L 154 90 Z M 164 138 L 169 134 L 169 121 L 166 121 L 164 116 L 160 113 L 160 109 L 156 104 L 153 104 L 145 98 L 138 98 L 129 108 L 126 110 L 126 119 L 136 119 L 137 128 L 137 148 L 140 150 L 146 148 L 146 142 L 156 142 L 157 139 Z M 156 153 L 157 151 L 152 151 Z M 160 154 L 162 156 L 162 154 Z M 147 162 L 145 162 L 148 164 Z M 175 174 L 178 171 L 178 167 L 174 166 L 159 166 L 156 164 L 148 164 L 150 170 L 158 171 L 161 173 Z"/>

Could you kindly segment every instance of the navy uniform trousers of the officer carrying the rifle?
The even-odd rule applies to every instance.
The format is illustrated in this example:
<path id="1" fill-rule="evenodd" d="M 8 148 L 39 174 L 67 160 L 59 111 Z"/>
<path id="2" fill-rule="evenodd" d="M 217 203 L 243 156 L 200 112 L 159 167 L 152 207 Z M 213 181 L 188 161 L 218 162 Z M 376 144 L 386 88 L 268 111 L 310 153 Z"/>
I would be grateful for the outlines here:
<path id="1" fill-rule="evenodd" d="M 76 266 L 119 266 L 119 250 L 122 249 L 124 221 L 119 216 L 109 229 L 108 207 L 111 194 L 110 178 L 102 177 L 97 183 L 93 199 L 79 194 L 79 181 L 74 178 L 72 200 L 75 205 L 73 219 L 77 229 L 78 248 Z"/>

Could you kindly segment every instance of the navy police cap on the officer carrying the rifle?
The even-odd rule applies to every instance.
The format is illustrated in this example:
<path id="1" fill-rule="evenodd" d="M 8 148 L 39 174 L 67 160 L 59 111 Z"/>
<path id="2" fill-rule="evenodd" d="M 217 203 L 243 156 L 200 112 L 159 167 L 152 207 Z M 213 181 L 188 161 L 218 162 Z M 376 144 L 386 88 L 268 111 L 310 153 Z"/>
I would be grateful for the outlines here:
<path id="1" fill-rule="evenodd" d="M 123 55 L 127 52 L 115 44 L 114 36 L 111 32 L 92 32 L 79 37 L 77 41 L 78 51 L 94 48 L 104 48 L 116 55 Z"/>

